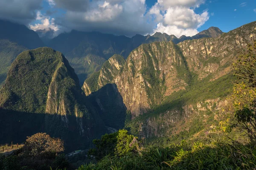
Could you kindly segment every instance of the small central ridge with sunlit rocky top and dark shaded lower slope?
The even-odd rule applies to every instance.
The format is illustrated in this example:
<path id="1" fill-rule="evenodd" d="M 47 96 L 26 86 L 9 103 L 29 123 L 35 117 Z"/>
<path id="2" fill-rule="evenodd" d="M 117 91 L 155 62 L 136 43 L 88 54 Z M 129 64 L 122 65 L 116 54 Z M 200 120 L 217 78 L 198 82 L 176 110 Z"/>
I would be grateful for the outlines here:
<path id="1" fill-rule="evenodd" d="M 122 96 L 115 84 L 111 84 L 125 64 L 120 55 L 113 55 L 100 71 L 94 72 L 85 80 L 82 89 L 98 110 L 99 116 L 108 127 L 121 129 L 125 126 L 126 110 Z M 90 87 L 90 88 L 89 88 Z"/>

